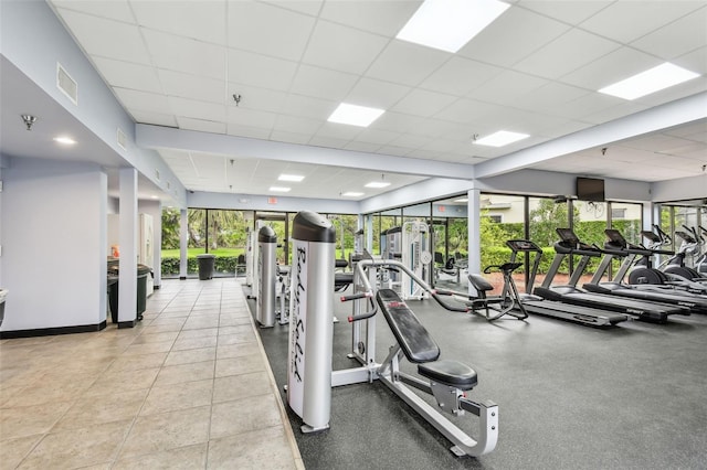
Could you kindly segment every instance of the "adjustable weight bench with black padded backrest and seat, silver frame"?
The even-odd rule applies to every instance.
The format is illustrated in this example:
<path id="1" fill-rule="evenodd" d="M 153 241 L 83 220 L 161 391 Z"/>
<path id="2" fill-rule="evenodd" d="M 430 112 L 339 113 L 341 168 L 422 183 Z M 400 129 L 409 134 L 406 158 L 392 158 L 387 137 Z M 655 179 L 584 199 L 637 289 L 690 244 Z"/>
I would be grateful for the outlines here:
<path id="1" fill-rule="evenodd" d="M 493 402 L 475 403 L 465 397 L 465 392 L 477 384 L 476 372 L 458 361 L 439 360 L 440 348 L 394 290 L 379 289 L 376 301 L 397 340 L 378 370 L 378 378 L 451 440 L 454 444 L 451 450 L 456 456 L 476 457 L 494 450 L 498 438 L 498 406 Z M 399 364 L 403 356 L 418 364 L 418 374 L 429 382 L 401 372 Z M 454 416 L 469 412 L 478 416 L 476 440 L 409 386 L 433 395 L 442 412 Z"/>

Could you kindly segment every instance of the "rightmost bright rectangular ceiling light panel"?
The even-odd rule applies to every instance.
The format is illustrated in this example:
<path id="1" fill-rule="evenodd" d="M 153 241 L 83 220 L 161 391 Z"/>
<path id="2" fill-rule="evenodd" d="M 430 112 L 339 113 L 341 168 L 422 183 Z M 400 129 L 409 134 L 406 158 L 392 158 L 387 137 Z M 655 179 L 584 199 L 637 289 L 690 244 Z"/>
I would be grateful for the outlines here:
<path id="1" fill-rule="evenodd" d="M 698 76 L 699 74 L 695 72 L 666 62 L 657 67 L 650 68 L 613 85 L 609 85 L 600 89 L 599 93 L 618 96 L 623 99 L 636 99 Z"/>

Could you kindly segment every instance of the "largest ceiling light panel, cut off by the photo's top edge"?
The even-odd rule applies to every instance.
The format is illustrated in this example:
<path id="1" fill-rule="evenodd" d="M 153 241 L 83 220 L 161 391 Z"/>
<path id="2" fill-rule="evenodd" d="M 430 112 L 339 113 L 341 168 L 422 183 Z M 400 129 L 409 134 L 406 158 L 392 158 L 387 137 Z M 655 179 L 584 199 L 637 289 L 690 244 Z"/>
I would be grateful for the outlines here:
<path id="1" fill-rule="evenodd" d="M 425 0 L 395 38 L 455 53 L 508 7 L 497 0 Z"/>

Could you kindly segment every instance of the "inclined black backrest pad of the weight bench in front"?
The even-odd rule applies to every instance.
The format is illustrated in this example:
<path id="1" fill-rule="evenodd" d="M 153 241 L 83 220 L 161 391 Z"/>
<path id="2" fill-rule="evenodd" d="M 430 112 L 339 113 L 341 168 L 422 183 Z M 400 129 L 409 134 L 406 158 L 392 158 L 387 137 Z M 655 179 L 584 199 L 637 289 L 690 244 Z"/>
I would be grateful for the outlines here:
<path id="1" fill-rule="evenodd" d="M 440 357 L 437 344 L 394 290 L 379 289 L 376 301 L 408 361 L 420 364 Z"/>

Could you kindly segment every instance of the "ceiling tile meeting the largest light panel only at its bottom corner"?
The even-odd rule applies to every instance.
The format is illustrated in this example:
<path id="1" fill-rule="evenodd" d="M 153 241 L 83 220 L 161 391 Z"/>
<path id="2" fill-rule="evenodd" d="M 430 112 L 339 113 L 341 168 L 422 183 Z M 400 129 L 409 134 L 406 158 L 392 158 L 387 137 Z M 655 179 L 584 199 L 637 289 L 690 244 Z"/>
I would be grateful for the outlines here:
<path id="1" fill-rule="evenodd" d="M 503 72 L 503 68 L 493 65 L 454 56 L 422 82 L 420 87 L 464 96 Z"/>

